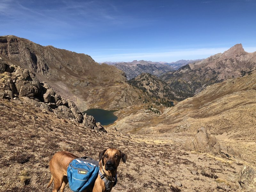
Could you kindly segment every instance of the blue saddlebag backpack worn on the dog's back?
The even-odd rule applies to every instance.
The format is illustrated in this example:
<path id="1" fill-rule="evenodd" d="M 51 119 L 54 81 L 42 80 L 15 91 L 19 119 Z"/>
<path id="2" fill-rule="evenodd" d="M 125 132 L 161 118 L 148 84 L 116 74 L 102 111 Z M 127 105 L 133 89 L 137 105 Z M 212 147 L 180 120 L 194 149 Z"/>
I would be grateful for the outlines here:
<path id="1" fill-rule="evenodd" d="M 92 186 L 99 173 L 99 161 L 77 158 L 68 165 L 68 183 L 72 191 L 81 192 Z"/>

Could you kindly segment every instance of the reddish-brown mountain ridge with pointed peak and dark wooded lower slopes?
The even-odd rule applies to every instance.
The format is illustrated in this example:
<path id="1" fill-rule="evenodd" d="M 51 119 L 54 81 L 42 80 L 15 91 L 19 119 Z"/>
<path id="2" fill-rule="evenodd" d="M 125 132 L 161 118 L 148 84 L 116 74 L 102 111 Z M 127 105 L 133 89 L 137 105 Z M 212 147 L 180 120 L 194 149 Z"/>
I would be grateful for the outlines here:
<path id="1" fill-rule="evenodd" d="M 251 74 L 256 68 L 256 52 L 247 53 L 242 44 L 197 63 L 188 64 L 160 77 L 180 97 L 193 97 L 206 86 Z"/>

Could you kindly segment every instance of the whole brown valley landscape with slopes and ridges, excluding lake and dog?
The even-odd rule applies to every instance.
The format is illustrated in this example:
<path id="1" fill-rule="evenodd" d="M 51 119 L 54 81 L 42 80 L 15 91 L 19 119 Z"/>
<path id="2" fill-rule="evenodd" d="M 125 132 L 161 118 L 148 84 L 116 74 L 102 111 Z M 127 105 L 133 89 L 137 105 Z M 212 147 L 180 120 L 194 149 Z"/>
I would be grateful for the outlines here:
<path id="1" fill-rule="evenodd" d="M 256 191 L 256 52 L 179 62 L 162 75 L 134 61 L 143 70 L 127 81 L 89 55 L 1 36 L 0 191 L 50 192 L 54 153 L 98 160 L 105 148 L 128 157 L 113 192 Z M 89 108 L 118 119 L 103 127 Z"/>

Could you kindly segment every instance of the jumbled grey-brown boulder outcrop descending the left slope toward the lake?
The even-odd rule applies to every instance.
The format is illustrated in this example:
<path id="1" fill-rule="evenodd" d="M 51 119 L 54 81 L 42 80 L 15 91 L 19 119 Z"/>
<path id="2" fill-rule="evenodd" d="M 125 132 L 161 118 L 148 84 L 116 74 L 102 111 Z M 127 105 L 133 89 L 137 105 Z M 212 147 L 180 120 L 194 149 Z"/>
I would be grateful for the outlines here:
<path id="1" fill-rule="evenodd" d="M 61 98 L 47 83 L 40 83 L 30 70 L 9 66 L 3 60 L 0 60 L 0 70 L 1 99 L 19 98 L 24 104 L 54 112 L 60 118 L 83 123 L 87 128 L 106 132 L 101 125 L 98 128 L 93 116 L 83 116 L 73 101 Z"/>

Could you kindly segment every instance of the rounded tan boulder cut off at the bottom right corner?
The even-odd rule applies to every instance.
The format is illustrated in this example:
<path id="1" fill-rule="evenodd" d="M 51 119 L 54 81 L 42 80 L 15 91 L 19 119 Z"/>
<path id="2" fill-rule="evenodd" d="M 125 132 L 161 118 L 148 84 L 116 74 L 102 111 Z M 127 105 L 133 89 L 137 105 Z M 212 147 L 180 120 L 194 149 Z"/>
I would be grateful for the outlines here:
<path id="1" fill-rule="evenodd" d="M 256 191 L 256 169 L 246 165 L 241 171 L 239 184 L 247 191 Z"/>

